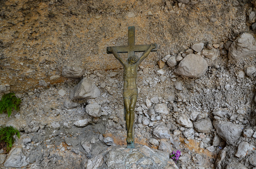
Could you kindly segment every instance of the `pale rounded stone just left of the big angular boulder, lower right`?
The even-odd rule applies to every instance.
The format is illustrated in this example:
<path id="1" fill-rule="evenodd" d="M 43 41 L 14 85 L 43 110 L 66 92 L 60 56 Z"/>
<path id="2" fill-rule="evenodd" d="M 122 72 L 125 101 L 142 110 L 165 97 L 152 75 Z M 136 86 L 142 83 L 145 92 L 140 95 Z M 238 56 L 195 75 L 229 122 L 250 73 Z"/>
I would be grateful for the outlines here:
<path id="1" fill-rule="evenodd" d="M 200 119 L 194 122 L 194 127 L 198 132 L 210 133 L 213 128 L 210 118 Z"/>

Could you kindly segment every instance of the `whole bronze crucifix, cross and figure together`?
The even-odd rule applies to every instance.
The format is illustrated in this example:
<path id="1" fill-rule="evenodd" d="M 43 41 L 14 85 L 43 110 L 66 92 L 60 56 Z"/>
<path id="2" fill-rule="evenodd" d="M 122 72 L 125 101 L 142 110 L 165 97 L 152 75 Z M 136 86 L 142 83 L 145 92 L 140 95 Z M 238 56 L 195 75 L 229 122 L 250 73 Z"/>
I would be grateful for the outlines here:
<path id="1" fill-rule="evenodd" d="M 134 148 L 134 108 L 138 97 L 136 79 L 138 75 L 138 65 L 148 56 L 150 51 L 157 51 L 156 43 L 135 45 L 135 27 L 128 27 L 128 45 L 108 46 L 107 53 L 113 53 L 116 59 L 124 68 L 124 119 L 127 129 L 127 148 Z M 144 51 L 144 52 L 143 52 Z M 127 53 L 128 59 L 125 61 L 118 53 Z M 135 52 L 143 52 L 138 57 Z"/>

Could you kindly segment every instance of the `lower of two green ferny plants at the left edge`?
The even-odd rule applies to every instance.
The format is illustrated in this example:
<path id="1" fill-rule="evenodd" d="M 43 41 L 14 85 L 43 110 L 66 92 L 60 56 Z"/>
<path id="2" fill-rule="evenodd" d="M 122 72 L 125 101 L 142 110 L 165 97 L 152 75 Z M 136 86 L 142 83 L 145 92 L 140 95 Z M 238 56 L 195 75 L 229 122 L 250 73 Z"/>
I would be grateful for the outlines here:
<path id="1" fill-rule="evenodd" d="M 13 136 L 15 134 L 18 136 L 18 138 L 20 138 L 19 130 L 14 128 L 13 126 L 3 126 L 2 125 L 0 127 L 0 145 L 3 146 L 3 144 L 1 144 L 1 142 L 5 142 L 7 145 L 6 146 L 7 152 L 10 151 L 13 146 L 13 143 L 15 141 L 15 138 Z M 2 147 L 2 148 L 5 148 L 5 147 Z"/>

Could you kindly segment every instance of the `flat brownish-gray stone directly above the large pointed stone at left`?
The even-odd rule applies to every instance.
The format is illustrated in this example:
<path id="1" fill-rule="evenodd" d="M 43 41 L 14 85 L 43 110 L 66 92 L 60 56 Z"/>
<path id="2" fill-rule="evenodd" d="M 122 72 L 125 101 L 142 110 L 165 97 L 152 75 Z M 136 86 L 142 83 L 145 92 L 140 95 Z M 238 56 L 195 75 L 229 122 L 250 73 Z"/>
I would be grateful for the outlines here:
<path id="1" fill-rule="evenodd" d="M 75 65 L 65 65 L 62 68 L 62 75 L 68 78 L 80 78 L 85 73 L 85 68 Z"/>

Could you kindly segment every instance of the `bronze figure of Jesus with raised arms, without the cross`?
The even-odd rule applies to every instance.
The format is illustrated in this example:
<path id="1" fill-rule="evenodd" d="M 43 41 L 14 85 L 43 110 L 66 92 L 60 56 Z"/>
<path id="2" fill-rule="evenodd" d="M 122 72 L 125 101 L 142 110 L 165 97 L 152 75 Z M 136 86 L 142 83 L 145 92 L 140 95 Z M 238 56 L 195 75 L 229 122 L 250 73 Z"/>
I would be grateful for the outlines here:
<path id="1" fill-rule="evenodd" d="M 107 47 L 107 51 L 114 54 L 116 59 L 124 67 L 124 89 L 123 89 L 123 99 L 124 99 L 124 108 L 125 108 L 125 120 L 127 127 L 127 143 L 134 142 L 133 138 L 133 125 L 134 125 L 134 108 L 138 97 L 138 89 L 136 85 L 136 79 L 138 75 L 138 65 L 148 56 L 152 49 L 156 48 L 156 44 L 152 43 L 149 47 L 143 52 L 141 57 L 137 55 L 130 56 L 126 61 L 117 53 L 113 47 Z"/>

